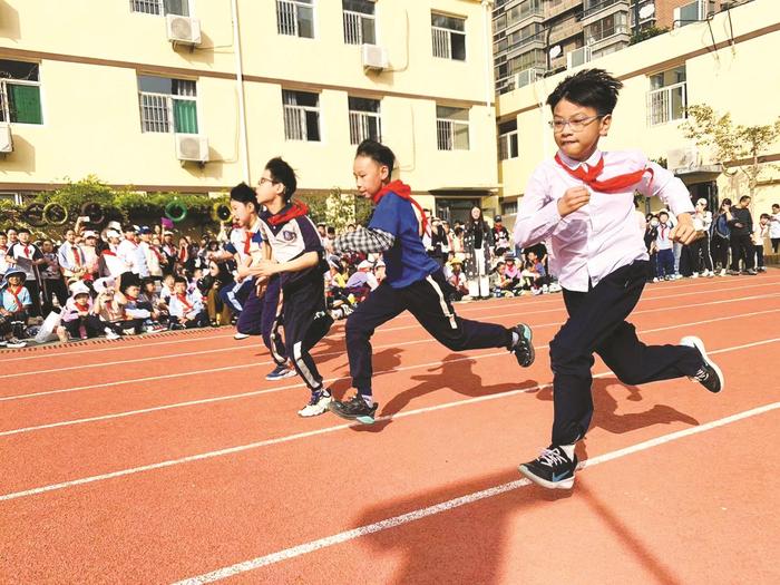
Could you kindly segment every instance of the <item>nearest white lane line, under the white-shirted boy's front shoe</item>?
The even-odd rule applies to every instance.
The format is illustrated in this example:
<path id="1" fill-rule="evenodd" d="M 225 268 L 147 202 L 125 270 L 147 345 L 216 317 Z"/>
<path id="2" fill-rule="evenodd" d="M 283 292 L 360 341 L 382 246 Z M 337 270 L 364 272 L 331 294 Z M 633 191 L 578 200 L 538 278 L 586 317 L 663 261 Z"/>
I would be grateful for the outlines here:
<path id="1" fill-rule="evenodd" d="M 692 437 L 694 435 L 700 435 L 702 432 L 706 432 L 706 431 L 710 431 L 712 429 L 716 429 L 719 427 L 725 427 L 727 425 L 731 425 L 732 422 L 738 422 L 740 420 L 744 420 L 744 419 L 749 419 L 751 417 L 757 417 L 757 416 L 760 416 L 760 415 L 763 415 L 767 412 L 771 412 L 773 410 L 777 410 L 778 408 L 780 408 L 780 402 L 773 402 L 771 404 L 766 404 L 763 407 L 753 408 L 751 410 L 745 410 L 743 412 L 739 412 L 739 413 L 732 415 L 730 417 L 725 417 L 722 419 L 705 422 L 704 425 L 700 425 L 698 427 L 691 427 L 691 428 L 679 430 L 675 432 L 670 432 L 669 435 L 662 435 L 661 437 L 656 437 L 654 439 L 637 442 L 635 445 L 632 445 L 630 447 L 625 447 L 623 449 L 617 449 L 615 451 L 610 451 L 610 452 L 606 452 L 603 455 L 597 455 L 595 457 L 591 457 L 589 459 L 587 459 L 586 461 L 584 461 L 579 466 L 579 469 L 594 467 L 594 466 L 597 466 L 601 464 L 605 464 L 607 461 L 614 461 L 615 459 L 620 459 L 622 457 L 627 457 L 630 455 L 634 455 L 634 454 L 637 454 L 641 451 L 646 451 L 649 449 L 653 449 L 655 447 L 659 447 L 661 445 L 665 445 L 667 442 L 684 439 L 686 437 Z M 259 556 L 259 557 L 252 558 L 250 560 L 244 560 L 243 563 L 237 563 L 235 565 L 220 568 L 220 569 L 213 571 L 211 573 L 205 573 L 205 574 L 198 575 L 196 577 L 191 577 L 191 578 L 187 578 L 184 581 L 179 581 L 175 585 L 196 585 L 196 584 L 202 584 L 202 583 L 213 583 L 215 581 L 222 581 L 224 578 L 240 575 L 242 573 L 247 573 L 250 571 L 255 571 L 255 569 L 259 569 L 261 567 L 266 567 L 269 565 L 274 565 L 276 563 L 281 563 L 283 560 L 289 560 L 291 558 L 308 555 L 309 553 L 314 553 L 315 550 L 321 550 L 323 548 L 329 548 L 329 547 L 338 545 L 338 544 L 347 543 L 349 540 L 354 540 L 357 538 L 361 538 L 361 537 L 368 536 L 370 534 L 380 533 L 383 530 L 388 530 L 390 528 L 396 528 L 398 526 L 402 526 L 404 524 L 420 520 L 422 518 L 427 518 L 429 516 L 442 514 L 442 513 L 452 510 L 455 508 L 459 508 L 462 506 L 467 506 L 469 504 L 474 504 L 475 501 L 491 498 L 495 496 L 499 496 L 501 494 L 506 494 L 507 491 L 513 491 L 515 489 L 519 489 L 519 488 L 528 486 L 528 485 L 530 485 L 530 481 L 528 479 L 517 479 L 515 481 L 509 481 L 508 484 L 501 484 L 500 486 L 495 486 L 495 487 L 491 487 L 488 489 L 484 489 L 480 491 L 475 491 L 472 494 L 468 494 L 466 496 L 452 498 L 452 499 L 449 499 L 447 501 L 436 504 L 433 506 L 428 506 L 426 508 L 419 508 L 419 509 L 409 511 L 407 514 L 401 514 L 399 516 L 386 518 L 383 520 L 379 520 L 379 521 L 373 523 L 373 524 L 367 524 L 367 525 L 360 526 L 358 528 L 352 528 L 351 530 L 345 530 L 343 533 L 326 536 L 326 537 L 320 538 L 318 540 L 311 540 L 311 542 L 302 544 L 302 545 L 293 546 L 291 548 L 285 548 L 284 550 L 279 550 L 279 552 L 272 553 L 270 555 Z"/>

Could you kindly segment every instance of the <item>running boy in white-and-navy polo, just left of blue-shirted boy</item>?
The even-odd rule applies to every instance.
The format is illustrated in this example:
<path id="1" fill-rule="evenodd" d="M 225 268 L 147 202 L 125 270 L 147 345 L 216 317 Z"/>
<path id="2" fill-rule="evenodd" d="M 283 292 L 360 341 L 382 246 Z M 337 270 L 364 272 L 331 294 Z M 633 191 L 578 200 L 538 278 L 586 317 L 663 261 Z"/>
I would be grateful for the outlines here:
<path id="1" fill-rule="evenodd" d="M 265 206 L 260 216 L 264 260 L 250 272 L 260 277 L 262 289 L 270 286 L 271 279 L 277 279 L 282 296 L 279 318 L 284 323 L 286 354 L 274 349 L 272 354 L 280 367 L 286 365 L 289 355 L 309 388 L 309 402 L 298 415 L 316 417 L 328 410 L 332 397 L 310 351 L 328 333 L 333 318 L 325 305 L 324 250 L 306 215 L 309 209 L 292 201 L 296 187 L 295 172 L 287 163 L 279 157 L 269 160 L 256 188 L 256 202 Z"/>

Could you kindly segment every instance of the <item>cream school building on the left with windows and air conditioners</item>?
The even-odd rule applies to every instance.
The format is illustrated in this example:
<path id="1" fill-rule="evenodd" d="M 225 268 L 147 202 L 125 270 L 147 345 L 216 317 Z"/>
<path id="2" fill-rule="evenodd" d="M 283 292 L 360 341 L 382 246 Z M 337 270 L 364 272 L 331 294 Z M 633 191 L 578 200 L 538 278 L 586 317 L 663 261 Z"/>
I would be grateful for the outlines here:
<path id="1" fill-rule="evenodd" d="M 97 175 L 142 192 L 354 189 L 367 137 L 420 203 L 498 189 L 488 0 L 0 0 L 0 196 Z"/>

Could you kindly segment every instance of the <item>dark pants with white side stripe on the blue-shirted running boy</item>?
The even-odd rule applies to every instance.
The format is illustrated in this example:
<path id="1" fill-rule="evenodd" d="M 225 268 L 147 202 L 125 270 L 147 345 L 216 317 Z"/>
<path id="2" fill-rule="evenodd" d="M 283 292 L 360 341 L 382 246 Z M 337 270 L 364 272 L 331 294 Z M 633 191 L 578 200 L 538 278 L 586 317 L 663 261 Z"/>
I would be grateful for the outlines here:
<path id="1" fill-rule="evenodd" d="M 347 354 L 352 384 L 361 394 L 371 394 L 371 335 L 374 330 L 409 311 L 442 345 L 452 351 L 508 348 L 511 331 L 503 325 L 460 319 L 448 298 L 450 285 L 441 271 L 403 289 L 387 282 L 372 291 L 347 319 Z"/>

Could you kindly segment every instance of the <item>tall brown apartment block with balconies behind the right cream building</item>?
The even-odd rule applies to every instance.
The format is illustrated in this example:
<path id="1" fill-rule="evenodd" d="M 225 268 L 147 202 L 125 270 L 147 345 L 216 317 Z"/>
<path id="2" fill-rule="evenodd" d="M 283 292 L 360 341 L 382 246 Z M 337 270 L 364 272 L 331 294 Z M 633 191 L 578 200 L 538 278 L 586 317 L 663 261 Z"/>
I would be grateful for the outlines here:
<path id="1" fill-rule="evenodd" d="M 496 90 L 511 91 L 628 47 L 649 29 L 705 21 L 745 0 L 497 0 Z"/>

